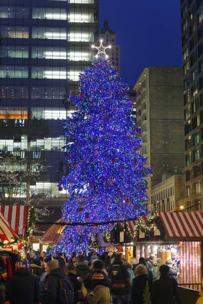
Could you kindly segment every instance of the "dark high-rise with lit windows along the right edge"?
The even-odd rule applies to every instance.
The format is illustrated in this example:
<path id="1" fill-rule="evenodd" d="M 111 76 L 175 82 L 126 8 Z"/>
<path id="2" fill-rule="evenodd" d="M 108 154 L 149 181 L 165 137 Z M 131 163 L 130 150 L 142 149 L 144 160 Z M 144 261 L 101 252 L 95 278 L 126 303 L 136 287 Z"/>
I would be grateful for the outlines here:
<path id="1" fill-rule="evenodd" d="M 202 208 L 203 2 L 181 0 L 185 135 L 185 208 Z"/>

